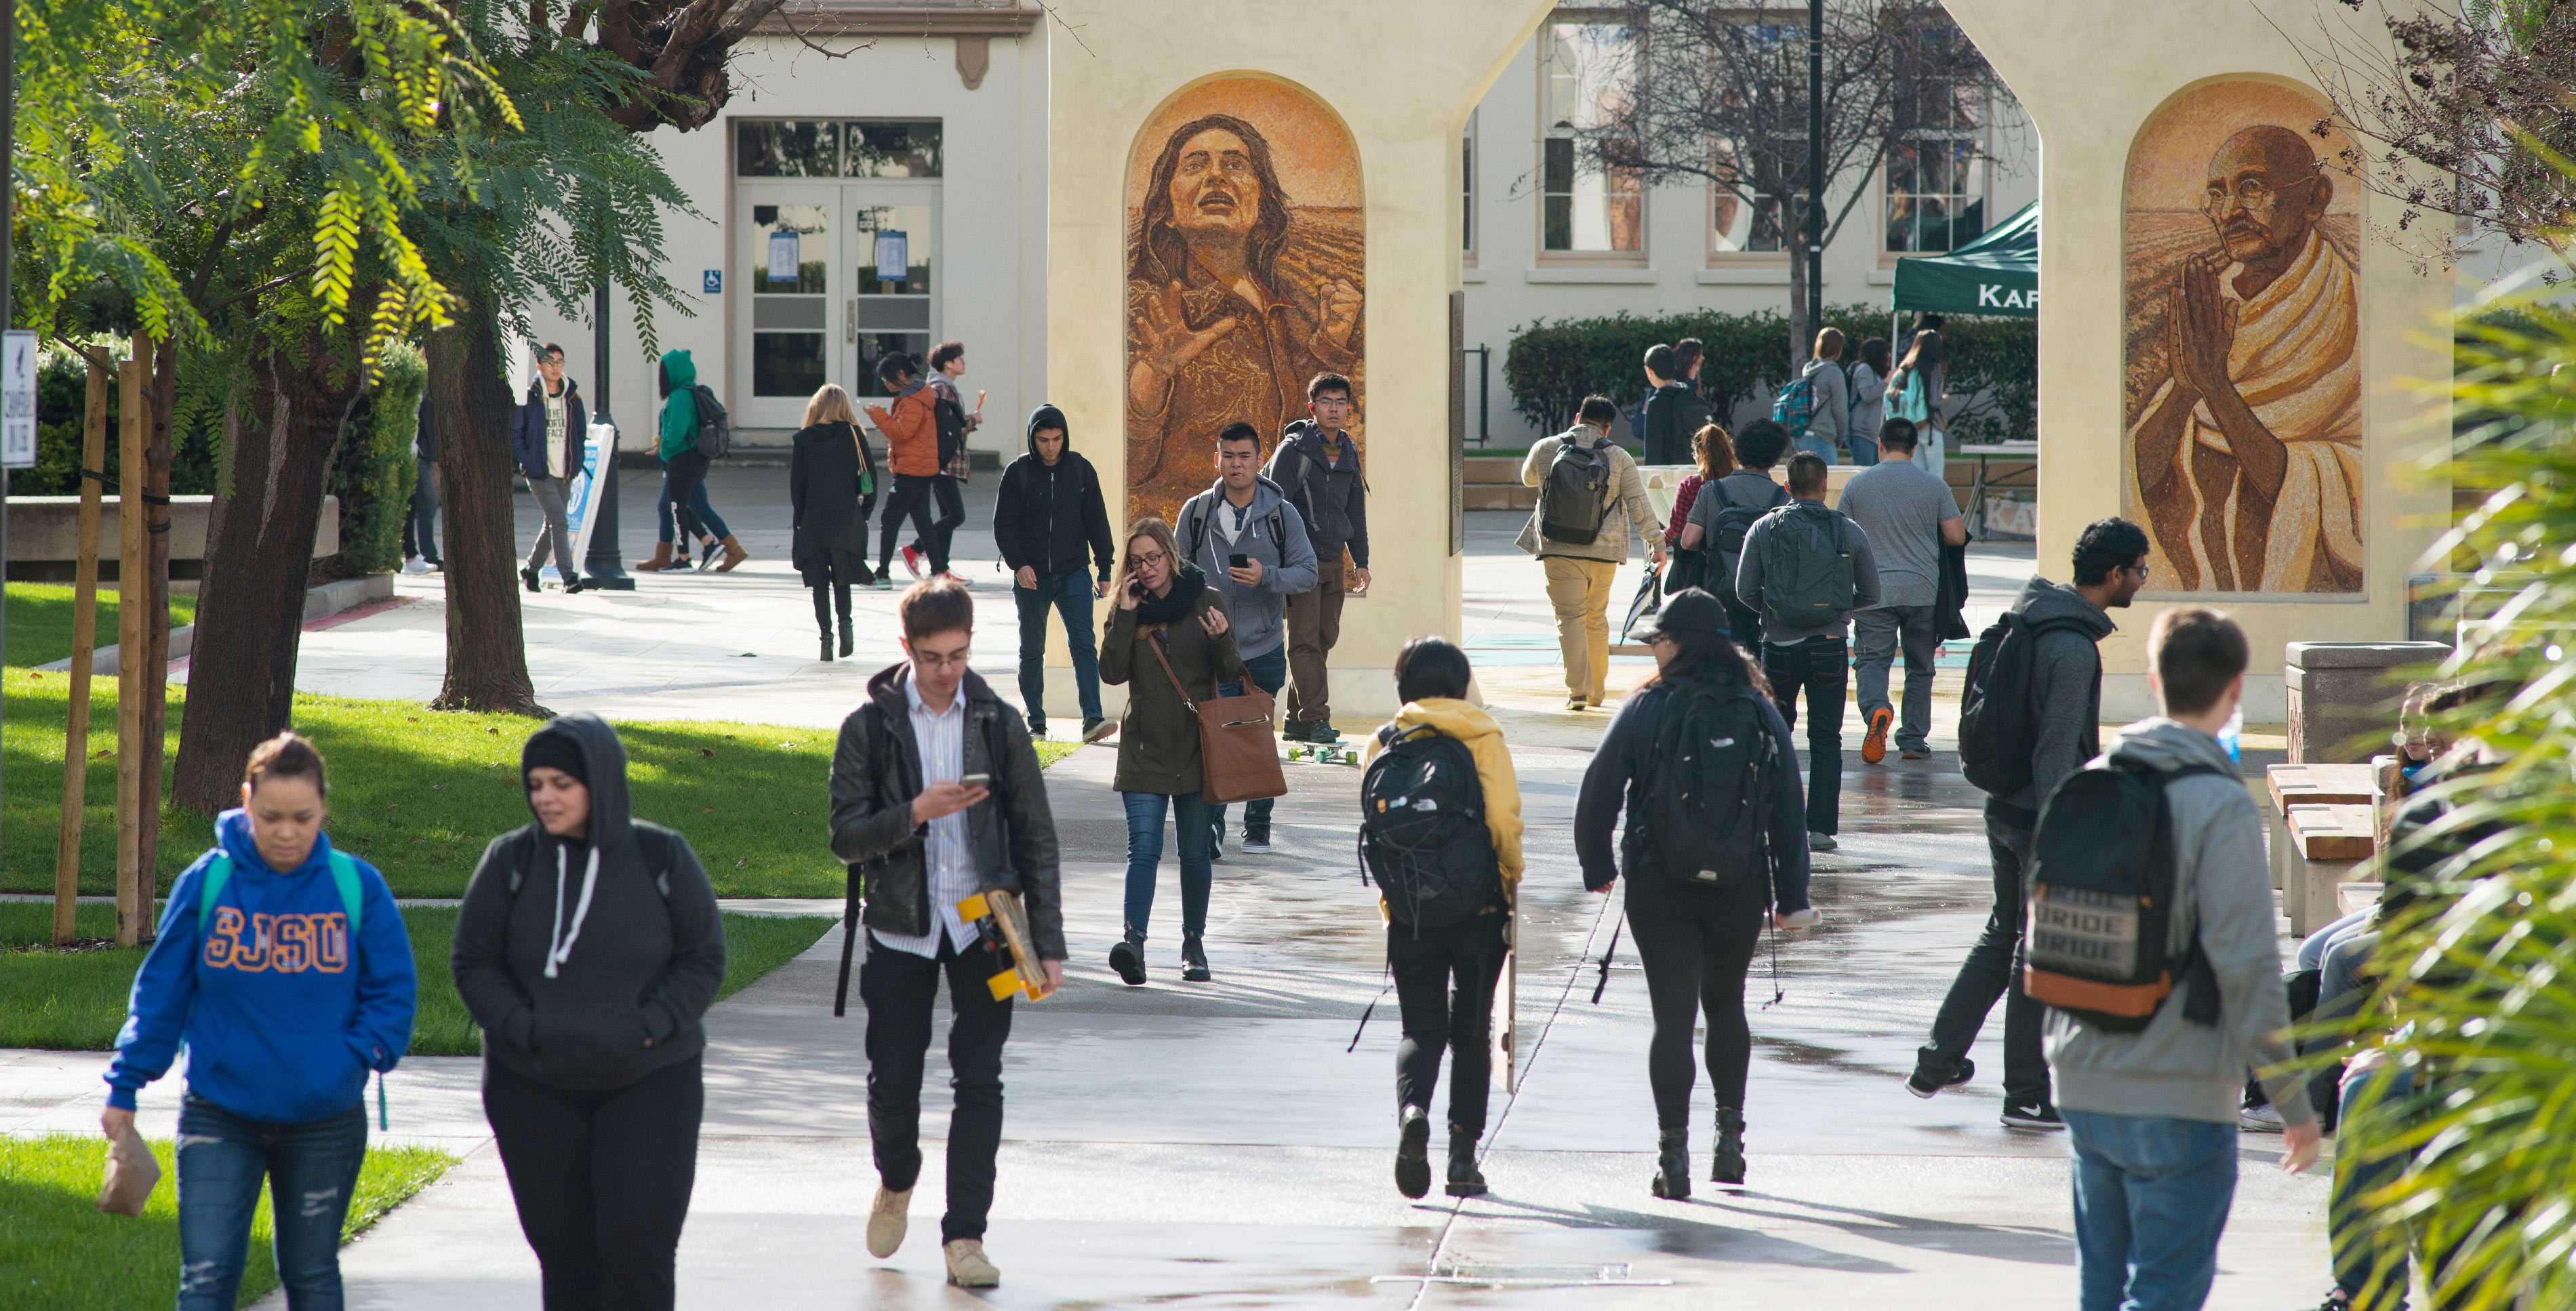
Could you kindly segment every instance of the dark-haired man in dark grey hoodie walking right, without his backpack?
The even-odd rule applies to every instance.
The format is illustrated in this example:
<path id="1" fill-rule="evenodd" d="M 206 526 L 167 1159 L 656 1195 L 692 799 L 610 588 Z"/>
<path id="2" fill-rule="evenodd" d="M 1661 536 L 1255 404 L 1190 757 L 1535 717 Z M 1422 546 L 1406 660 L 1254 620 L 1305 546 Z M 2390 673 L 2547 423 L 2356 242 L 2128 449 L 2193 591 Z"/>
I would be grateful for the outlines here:
<path id="1" fill-rule="evenodd" d="M 2146 587 L 2146 531 L 2125 518 L 2084 525 L 2074 551 L 2074 587 L 2032 577 L 2012 610 L 2038 639 L 2030 654 L 2030 783 L 1986 798 L 1986 850 L 1994 858 L 1994 914 L 1958 966 L 1950 994 L 1932 1017 L 1932 1041 L 1914 1053 L 1906 1092 L 1932 1097 L 1976 1077 L 1968 1046 L 1986 1012 L 2004 999 L 2004 1123 L 2066 1128 L 2048 1100 L 2040 1051 L 2040 1004 L 2022 992 L 2022 878 L 2040 804 L 2058 780 L 2102 755 L 2102 652 L 2117 610 Z"/>

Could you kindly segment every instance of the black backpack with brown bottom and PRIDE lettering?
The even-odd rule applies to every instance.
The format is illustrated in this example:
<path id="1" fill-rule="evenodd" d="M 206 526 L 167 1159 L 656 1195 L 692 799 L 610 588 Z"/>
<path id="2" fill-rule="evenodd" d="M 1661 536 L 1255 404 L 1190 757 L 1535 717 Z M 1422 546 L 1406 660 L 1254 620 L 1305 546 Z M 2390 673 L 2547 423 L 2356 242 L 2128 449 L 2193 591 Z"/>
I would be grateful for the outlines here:
<path id="1" fill-rule="evenodd" d="M 2164 788 L 2210 765 L 2087 765 L 2040 809 L 2025 886 L 2022 992 L 2110 1033 L 2138 1033 L 2177 986 L 2182 1017 L 2218 1023 L 2218 976 L 2200 930 L 2177 956 L 2174 832 Z"/>

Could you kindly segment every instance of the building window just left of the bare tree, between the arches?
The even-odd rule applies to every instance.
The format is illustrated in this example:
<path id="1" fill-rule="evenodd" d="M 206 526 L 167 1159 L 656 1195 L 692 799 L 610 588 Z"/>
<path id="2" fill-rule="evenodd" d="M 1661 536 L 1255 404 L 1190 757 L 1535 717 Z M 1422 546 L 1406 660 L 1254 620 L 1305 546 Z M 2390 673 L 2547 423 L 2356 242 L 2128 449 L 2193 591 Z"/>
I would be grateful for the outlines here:
<path id="1" fill-rule="evenodd" d="M 1540 252 L 1646 252 L 1646 193 L 1633 170 L 1584 160 L 1579 139 L 1620 121 L 1636 95 L 1636 28 L 1558 18 L 1538 46 L 1538 227 Z"/>

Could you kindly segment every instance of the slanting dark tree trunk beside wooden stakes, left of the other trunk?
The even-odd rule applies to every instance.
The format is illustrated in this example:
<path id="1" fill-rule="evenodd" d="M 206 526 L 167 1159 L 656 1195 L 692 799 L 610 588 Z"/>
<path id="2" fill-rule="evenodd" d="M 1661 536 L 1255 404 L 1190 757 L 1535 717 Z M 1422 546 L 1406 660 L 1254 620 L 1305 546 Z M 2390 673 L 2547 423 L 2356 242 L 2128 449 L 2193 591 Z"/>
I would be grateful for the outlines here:
<path id="1" fill-rule="evenodd" d="M 234 801 L 242 760 L 286 729 L 304 639 L 304 585 L 340 425 L 358 399 L 350 350 L 307 340 L 252 355 L 232 487 L 198 587 L 196 652 L 180 716 L 175 801 Z"/>

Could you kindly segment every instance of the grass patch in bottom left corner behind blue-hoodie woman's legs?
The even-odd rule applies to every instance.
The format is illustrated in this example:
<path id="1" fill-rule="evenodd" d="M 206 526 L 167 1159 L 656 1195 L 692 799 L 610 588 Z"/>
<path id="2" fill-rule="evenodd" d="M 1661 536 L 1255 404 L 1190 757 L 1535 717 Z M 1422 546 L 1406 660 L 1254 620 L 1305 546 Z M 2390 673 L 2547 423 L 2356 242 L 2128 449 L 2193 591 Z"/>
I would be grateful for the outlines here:
<path id="1" fill-rule="evenodd" d="M 0 1138 L 0 1303 L 46 1311 L 160 1311 L 178 1290 L 178 1180 L 170 1144 L 155 1141 L 162 1182 L 139 1218 L 98 1213 L 108 1146 L 95 1136 Z M 435 1182 L 456 1156 L 430 1146 L 371 1146 L 358 1167 L 340 1241 Z M 278 1285 L 268 1252 L 268 1193 L 250 1221 L 250 1262 L 237 1306 Z"/>

